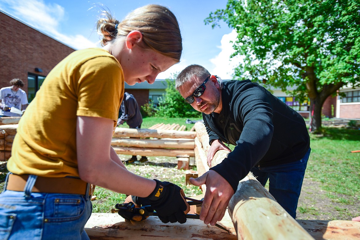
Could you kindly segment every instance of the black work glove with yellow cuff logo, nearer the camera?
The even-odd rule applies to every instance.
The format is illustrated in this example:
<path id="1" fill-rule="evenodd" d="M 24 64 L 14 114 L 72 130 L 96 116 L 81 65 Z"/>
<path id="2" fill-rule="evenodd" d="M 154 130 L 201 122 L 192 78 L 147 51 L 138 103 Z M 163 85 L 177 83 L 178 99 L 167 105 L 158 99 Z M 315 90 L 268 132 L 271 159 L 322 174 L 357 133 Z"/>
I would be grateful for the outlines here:
<path id="1" fill-rule="evenodd" d="M 181 196 L 183 190 L 171 182 L 161 182 L 156 180 L 154 191 L 147 197 L 159 219 L 163 223 L 185 223 L 184 211 L 187 209 L 184 198 Z"/>

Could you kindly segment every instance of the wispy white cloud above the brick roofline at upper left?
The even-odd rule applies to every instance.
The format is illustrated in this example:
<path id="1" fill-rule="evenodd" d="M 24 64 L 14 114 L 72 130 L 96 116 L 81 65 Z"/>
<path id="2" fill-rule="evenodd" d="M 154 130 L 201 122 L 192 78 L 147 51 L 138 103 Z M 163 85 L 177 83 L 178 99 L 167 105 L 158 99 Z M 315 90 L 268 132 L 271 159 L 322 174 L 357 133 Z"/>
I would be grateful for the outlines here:
<path id="1" fill-rule="evenodd" d="M 81 35 L 68 36 L 59 32 L 65 9 L 59 4 L 48 4 L 43 0 L 1 0 L 7 5 L 10 15 L 44 32 L 46 35 L 75 49 L 95 47 L 96 44 Z"/>

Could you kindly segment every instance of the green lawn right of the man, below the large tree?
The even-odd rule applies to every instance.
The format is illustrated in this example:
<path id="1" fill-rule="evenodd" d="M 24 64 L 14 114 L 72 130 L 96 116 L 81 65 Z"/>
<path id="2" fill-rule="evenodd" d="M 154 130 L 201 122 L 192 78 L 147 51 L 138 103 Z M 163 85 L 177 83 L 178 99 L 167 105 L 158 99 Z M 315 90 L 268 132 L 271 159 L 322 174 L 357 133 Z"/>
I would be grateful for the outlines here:
<path id="1" fill-rule="evenodd" d="M 337 194 L 360 200 L 360 131 L 324 127 L 322 135 L 310 135 L 311 154 L 307 174 L 318 179 L 331 198 Z M 342 200 L 343 201 L 343 200 Z"/>

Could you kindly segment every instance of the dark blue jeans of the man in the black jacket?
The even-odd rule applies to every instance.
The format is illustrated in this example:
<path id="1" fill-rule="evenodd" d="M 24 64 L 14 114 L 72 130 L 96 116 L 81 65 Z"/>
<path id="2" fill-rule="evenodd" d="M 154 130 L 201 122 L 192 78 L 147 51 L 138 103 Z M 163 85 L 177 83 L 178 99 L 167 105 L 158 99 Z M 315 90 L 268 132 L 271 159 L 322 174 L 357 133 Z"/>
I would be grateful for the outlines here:
<path id="1" fill-rule="evenodd" d="M 255 166 L 251 169 L 262 186 L 269 180 L 269 193 L 293 218 L 296 218 L 297 202 L 310 151 L 309 148 L 305 156 L 296 162 L 271 167 Z"/>

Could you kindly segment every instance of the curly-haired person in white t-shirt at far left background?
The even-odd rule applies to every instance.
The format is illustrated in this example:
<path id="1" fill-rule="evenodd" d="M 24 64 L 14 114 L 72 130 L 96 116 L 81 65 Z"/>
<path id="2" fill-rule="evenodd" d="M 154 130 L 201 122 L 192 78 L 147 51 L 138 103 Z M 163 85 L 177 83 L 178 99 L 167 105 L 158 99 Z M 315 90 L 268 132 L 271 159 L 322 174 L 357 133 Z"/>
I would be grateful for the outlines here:
<path id="1" fill-rule="evenodd" d="M 0 117 L 21 117 L 21 114 L 10 113 L 10 108 L 15 107 L 23 112 L 26 109 L 27 95 L 21 89 L 24 82 L 19 78 L 14 78 L 10 81 L 10 85 L 10 87 L 0 89 Z"/>

